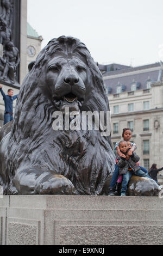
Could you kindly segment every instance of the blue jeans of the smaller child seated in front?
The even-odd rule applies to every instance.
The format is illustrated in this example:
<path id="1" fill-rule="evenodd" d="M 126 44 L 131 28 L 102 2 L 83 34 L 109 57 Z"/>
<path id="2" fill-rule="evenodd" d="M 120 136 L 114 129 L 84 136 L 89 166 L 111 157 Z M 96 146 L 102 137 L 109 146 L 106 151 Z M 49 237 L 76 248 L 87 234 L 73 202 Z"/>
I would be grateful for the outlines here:
<path id="1" fill-rule="evenodd" d="M 130 170 L 127 170 L 127 173 L 123 174 L 121 193 L 125 193 L 127 191 L 127 185 L 132 175 L 147 177 L 151 179 L 151 177 L 149 177 L 149 175 L 142 170 L 137 170 L 136 174 Z"/>

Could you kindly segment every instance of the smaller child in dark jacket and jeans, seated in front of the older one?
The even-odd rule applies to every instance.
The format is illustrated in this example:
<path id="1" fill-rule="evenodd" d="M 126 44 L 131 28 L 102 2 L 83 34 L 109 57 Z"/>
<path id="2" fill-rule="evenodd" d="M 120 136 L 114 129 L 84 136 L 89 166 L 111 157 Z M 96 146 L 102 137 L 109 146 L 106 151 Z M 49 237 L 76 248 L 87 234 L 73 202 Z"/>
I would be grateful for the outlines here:
<path id="1" fill-rule="evenodd" d="M 127 155 L 128 145 L 126 141 L 119 142 L 119 148 L 124 155 Z M 117 164 L 120 167 L 120 174 L 123 174 L 121 196 L 126 196 L 127 185 L 132 175 L 151 178 L 147 173 L 144 173 L 137 165 L 140 157 L 134 152 L 129 152 L 128 154 L 130 155 L 128 160 L 126 160 L 126 157 L 117 156 Z"/>

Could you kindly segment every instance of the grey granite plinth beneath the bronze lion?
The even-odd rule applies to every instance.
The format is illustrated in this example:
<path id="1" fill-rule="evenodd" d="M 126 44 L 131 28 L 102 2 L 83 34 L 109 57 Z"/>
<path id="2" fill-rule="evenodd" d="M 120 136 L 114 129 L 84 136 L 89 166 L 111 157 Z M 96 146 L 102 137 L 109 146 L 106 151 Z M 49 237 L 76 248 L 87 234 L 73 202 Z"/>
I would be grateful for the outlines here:
<path id="1" fill-rule="evenodd" d="M 1 245 L 163 245 L 163 199 L 1 196 Z"/>

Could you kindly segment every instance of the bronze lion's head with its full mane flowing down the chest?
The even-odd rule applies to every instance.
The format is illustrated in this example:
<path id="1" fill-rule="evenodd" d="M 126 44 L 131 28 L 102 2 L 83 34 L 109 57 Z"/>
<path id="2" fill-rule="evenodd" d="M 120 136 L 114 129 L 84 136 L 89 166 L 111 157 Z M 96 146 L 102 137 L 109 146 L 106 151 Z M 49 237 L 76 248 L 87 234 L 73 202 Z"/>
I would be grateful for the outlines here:
<path id="1" fill-rule="evenodd" d="M 62 134 L 52 129 L 53 112 L 64 112 L 65 106 L 70 107 L 70 111 L 78 112 L 109 111 L 102 74 L 90 52 L 78 39 L 60 36 L 49 41 L 36 61 L 29 65 L 29 70 L 17 98 L 7 151 L 8 172 L 14 176 L 15 170 L 23 168 L 23 164 L 27 166 L 38 162 L 48 169 L 54 169 L 54 144 L 57 147 L 61 145 L 62 148 L 65 147 L 64 154 L 58 149 L 61 161 L 56 160 L 58 165 L 62 164 L 60 174 L 71 181 L 77 181 L 78 178 L 74 178 L 72 174 L 75 170 L 73 161 L 80 161 L 80 169 L 87 161 L 92 161 L 87 163 L 85 169 L 79 170 L 81 178 L 78 187 L 86 186 L 87 182 L 87 194 L 95 194 L 96 190 L 96 193 L 101 192 L 106 177 L 114 168 L 110 136 L 101 137 L 100 131 Z M 99 149 L 98 156 L 95 145 Z M 76 155 L 73 155 L 74 152 Z M 40 158 L 39 154 L 42 154 Z M 73 161 L 64 158 L 68 157 L 67 154 L 70 159 L 73 156 Z M 89 154 L 92 154 L 92 160 L 88 160 Z M 93 168 L 96 169 L 96 174 L 91 174 Z M 82 175 L 90 177 L 85 184 L 82 184 Z M 100 188 L 98 182 L 102 184 Z M 93 183 L 96 188 L 92 188 Z M 94 192 L 90 192 L 91 190 Z"/>

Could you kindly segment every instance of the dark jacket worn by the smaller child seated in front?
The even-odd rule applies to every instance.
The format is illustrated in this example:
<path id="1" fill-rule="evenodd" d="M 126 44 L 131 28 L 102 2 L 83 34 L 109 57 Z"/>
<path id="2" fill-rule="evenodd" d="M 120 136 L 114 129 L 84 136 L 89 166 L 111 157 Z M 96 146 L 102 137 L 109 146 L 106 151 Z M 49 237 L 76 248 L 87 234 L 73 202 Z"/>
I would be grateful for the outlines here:
<path id="1" fill-rule="evenodd" d="M 140 170 L 140 167 L 137 165 L 139 159 L 140 157 L 136 155 L 136 153 L 133 153 L 133 155 L 129 157 L 129 160 L 126 160 L 124 157 L 120 157 L 118 155 L 117 164 L 120 167 L 120 174 L 126 174 L 129 168 L 132 169 L 134 173 L 136 173 L 137 170 Z"/>

